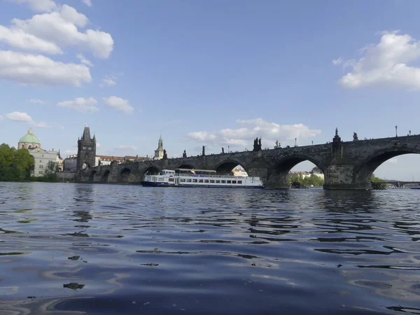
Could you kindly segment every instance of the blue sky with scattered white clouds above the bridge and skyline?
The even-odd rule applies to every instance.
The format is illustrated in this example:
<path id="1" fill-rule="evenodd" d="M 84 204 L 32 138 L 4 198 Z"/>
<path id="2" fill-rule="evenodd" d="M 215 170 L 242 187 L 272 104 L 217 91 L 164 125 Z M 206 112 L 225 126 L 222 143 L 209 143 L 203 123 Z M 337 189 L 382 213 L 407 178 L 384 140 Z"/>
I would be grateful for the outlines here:
<path id="1" fill-rule="evenodd" d="M 0 0 L 0 143 L 169 158 L 420 134 L 420 1 Z M 295 140 L 296 139 L 296 140 Z M 420 180 L 420 156 L 375 175 Z M 294 170 L 310 170 L 302 162 Z"/>

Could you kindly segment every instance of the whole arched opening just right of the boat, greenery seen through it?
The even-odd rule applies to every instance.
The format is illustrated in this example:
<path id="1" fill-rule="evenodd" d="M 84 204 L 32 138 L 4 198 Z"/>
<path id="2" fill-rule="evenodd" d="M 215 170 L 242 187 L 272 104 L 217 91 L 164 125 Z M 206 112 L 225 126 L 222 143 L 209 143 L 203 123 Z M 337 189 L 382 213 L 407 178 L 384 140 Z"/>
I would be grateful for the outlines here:
<path id="1" fill-rule="evenodd" d="M 324 174 L 321 163 L 306 156 L 283 158 L 269 169 L 266 188 L 322 188 Z"/>

